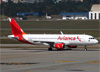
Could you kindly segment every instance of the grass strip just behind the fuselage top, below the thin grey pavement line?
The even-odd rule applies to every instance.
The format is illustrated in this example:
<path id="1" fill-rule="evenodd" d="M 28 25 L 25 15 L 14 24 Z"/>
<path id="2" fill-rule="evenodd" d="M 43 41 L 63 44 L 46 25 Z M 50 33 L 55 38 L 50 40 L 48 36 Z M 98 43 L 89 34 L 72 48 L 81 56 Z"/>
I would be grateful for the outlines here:
<path id="1" fill-rule="evenodd" d="M 60 30 L 24 30 L 27 34 L 60 34 Z M 88 34 L 99 37 L 99 30 L 62 30 L 64 34 Z M 1 37 L 11 35 L 11 30 L 1 30 Z"/>

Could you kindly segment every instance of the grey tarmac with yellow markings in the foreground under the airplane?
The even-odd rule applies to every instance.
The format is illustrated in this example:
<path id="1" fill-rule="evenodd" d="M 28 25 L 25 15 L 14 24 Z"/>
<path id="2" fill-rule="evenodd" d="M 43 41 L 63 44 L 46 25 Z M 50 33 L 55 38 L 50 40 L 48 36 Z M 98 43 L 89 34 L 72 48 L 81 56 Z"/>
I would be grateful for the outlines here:
<path id="1" fill-rule="evenodd" d="M 100 72 L 100 49 L 95 47 L 88 51 L 0 48 L 0 55 L 0 72 Z"/>

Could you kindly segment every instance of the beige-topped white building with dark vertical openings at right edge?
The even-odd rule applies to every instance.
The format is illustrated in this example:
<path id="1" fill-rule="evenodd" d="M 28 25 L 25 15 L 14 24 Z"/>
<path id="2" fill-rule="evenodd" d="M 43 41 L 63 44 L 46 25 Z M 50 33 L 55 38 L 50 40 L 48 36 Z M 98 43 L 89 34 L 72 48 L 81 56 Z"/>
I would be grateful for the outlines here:
<path id="1" fill-rule="evenodd" d="M 100 19 L 100 4 L 94 4 L 89 12 L 89 19 L 98 20 Z"/>

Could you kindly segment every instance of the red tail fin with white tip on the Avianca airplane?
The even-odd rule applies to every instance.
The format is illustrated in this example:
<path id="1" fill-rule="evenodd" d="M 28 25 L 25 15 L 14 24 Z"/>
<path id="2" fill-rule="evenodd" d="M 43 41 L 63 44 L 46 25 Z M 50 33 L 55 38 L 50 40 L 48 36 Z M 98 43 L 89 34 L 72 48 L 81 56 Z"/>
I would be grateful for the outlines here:
<path id="1" fill-rule="evenodd" d="M 12 34 L 14 36 L 26 34 L 13 18 L 9 18 Z"/>

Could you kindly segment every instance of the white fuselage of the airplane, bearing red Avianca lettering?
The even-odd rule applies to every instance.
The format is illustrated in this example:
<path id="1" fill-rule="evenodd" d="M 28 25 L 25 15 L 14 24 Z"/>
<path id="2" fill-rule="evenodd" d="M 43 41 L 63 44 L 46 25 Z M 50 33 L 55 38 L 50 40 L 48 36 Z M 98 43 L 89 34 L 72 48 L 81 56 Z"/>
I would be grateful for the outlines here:
<path id="1" fill-rule="evenodd" d="M 26 34 L 23 38 L 33 44 L 64 43 L 65 45 L 94 45 L 98 41 L 83 34 Z"/>

